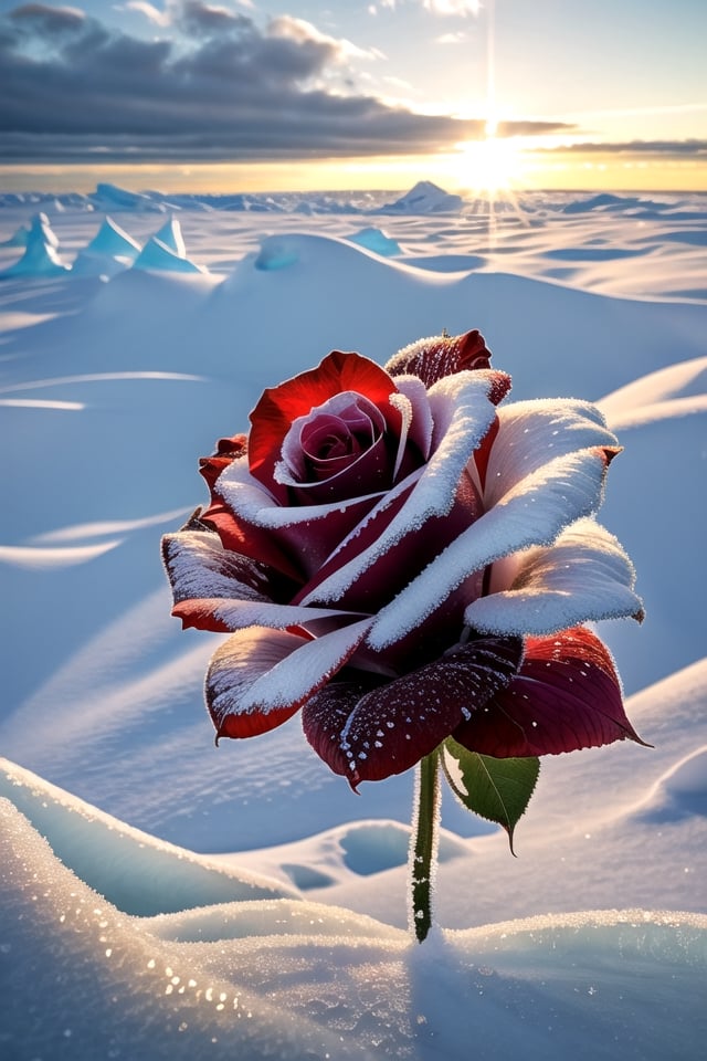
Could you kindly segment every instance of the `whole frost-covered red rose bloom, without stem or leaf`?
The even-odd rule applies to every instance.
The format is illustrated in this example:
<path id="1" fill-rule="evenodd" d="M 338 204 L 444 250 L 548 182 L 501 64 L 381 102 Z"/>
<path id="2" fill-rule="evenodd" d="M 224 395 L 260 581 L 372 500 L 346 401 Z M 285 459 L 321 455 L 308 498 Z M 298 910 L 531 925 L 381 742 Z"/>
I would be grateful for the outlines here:
<path id="1" fill-rule="evenodd" d="M 207 701 L 218 735 L 303 708 L 351 785 L 449 736 L 495 757 L 636 738 L 581 623 L 641 614 L 599 524 L 616 440 L 570 400 L 497 405 L 477 332 L 380 368 L 333 353 L 266 390 L 202 462 L 211 503 L 163 555 L 183 624 L 231 632 Z"/>

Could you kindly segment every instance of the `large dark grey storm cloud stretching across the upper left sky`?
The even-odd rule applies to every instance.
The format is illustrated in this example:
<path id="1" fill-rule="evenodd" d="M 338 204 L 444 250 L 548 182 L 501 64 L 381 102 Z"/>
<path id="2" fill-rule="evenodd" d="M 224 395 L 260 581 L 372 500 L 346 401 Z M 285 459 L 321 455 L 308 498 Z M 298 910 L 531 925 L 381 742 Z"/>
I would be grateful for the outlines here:
<path id="1" fill-rule="evenodd" d="M 0 158 L 217 161 L 403 154 L 483 136 L 483 122 L 414 114 L 323 87 L 344 45 L 287 17 L 265 30 L 188 0 L 143 40 L 75 9 L 0 20 Z M 567 128 L 507 124 L 505 135 Z"/>

